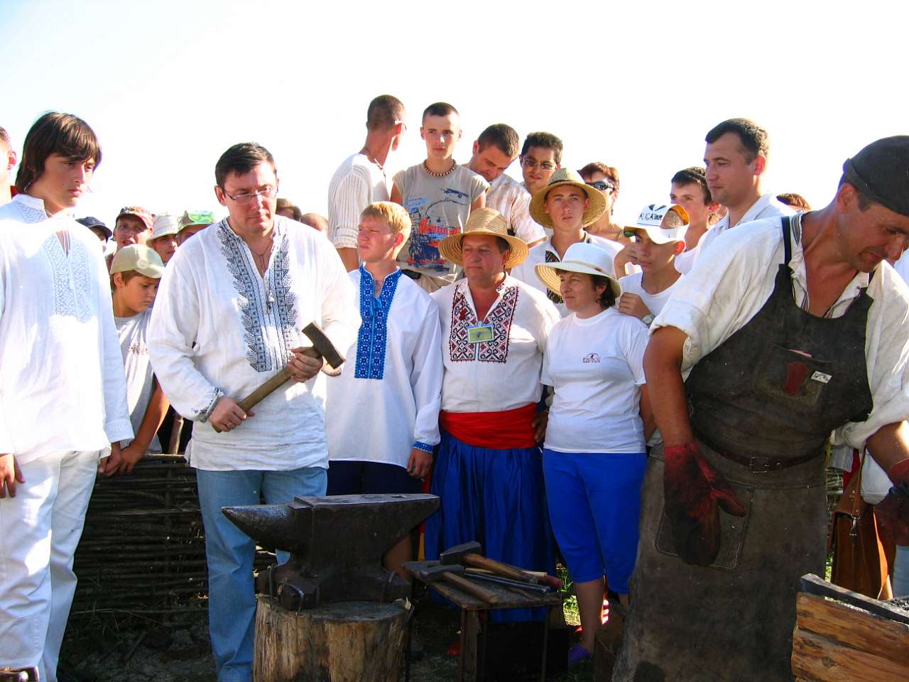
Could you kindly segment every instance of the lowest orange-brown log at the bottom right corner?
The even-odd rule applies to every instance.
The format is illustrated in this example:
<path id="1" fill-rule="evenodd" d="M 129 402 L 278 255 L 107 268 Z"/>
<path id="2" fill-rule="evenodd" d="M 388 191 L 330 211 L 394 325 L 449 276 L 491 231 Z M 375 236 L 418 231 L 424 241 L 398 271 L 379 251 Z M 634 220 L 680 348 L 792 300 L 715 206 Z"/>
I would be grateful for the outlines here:
<path id="1" fill-rule="evenodd" d="M 794 677 L 813 682 L 894 682 L 909 678 L 909 667 L 798 627 L 793 636 L 792 662 Z"/>

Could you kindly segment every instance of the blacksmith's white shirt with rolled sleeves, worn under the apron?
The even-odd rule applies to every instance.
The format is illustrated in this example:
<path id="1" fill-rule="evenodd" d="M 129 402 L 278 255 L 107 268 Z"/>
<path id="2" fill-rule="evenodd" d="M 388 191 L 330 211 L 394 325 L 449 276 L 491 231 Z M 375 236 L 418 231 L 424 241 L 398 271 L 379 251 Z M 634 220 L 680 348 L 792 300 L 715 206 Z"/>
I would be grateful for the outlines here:
<path id="1" fill-rule="evenodd" d="M 654 320 L 681 329 L 684 342 L 683 375 L 701 358 L 722 344 L 754 317 L 774 290 L 777 269 L 784 259 L 780 219 L 756 220 L 727 231 L 716 240 L 696 266 L 675 286 L 673 296 Z M 807 306 L 807 275 L 801 241 L 801 215 L 794 219 L 793 294 L 797 305 Z M 862 448 L 881 426 L 909 417 L 909 287 L 894 268 L 881 263 L 870 278 L 858 273 L 828 311 L 843 316 L 867 286 L 874 299 L 868 311 L 865 362 L 874 408 L 867 421 L 849 423 L 836 432 L 837 442 Z"/>

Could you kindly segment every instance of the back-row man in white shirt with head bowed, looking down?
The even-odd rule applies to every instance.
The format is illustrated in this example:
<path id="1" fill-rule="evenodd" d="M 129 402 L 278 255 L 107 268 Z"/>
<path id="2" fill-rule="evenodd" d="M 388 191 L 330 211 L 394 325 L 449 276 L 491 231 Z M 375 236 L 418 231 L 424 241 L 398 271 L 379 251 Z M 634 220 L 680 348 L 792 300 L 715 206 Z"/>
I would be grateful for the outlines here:
<path id="1" fill-rule="evenodd" d="M 517 132 L 510 125 L 496 123 L 487 127 L 474 142 L 474 154 L 467 165 L 490 184 L 486 206 L 508 221 L 508 234 L 534 246 L 545 238 L 543 227 L 530 217 L 530 194 L 524 186 L 505 175 L 518 155 Z"/>

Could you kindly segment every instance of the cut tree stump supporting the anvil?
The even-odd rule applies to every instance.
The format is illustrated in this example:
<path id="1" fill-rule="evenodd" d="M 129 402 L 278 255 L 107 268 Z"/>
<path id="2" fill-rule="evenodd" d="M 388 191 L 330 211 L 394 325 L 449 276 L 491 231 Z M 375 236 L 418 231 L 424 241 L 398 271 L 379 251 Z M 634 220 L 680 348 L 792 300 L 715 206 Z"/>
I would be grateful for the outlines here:
<path id="1" fill-rule="evenodd" d="M 255 682 L 397 682 L 403 608 L 352 601 L 296 612 L 266 595 L 256 600 Z"/>

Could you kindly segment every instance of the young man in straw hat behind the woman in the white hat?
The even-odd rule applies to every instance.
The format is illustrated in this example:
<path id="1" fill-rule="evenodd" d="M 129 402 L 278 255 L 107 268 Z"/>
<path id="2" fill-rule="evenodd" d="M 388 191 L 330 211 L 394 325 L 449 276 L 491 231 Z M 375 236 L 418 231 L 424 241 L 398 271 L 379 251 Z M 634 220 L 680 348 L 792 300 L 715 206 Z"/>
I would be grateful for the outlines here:
<path id="1" fill-rule="evenodd" d="M 538 189 L 531 200 L 530 215 L 540 225 L 552 229 L 553 236 L 530 249 L 527 259 L 514 268 L 512 276 L 544 292 L 563 317 L 568 315 L 568 309 L 562 296 L 546 288 L 536 276 L 534 267 L 541 263 L 558 263 L 569 246 L 584 242 L 598 246 L 610 255 L 609 276 L 615 276 L 612 262 L 622 245 L 584 232 L 584 226 L 596 222 L 605 208 L 603 195 L 569 168 L 556 170 L 549 178 L 549 184 Z"/>

